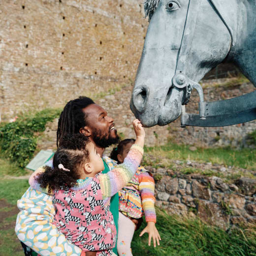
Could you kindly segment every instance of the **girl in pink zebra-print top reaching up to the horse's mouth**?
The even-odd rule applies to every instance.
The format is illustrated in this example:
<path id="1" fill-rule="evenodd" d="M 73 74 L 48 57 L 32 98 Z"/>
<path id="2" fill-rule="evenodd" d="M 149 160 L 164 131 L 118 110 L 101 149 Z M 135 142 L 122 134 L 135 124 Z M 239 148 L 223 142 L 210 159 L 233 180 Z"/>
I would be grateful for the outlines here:
<path id="1" fill-rule="evenodd" d="M 137 119 L 133 128 L 137 138 L 127 158 L 106 174 L 100 173 L 104 164 L 95 144 L 81 134 L 74 134 L 55 153 L 53 168 L 45 167 L 44 172 L 34 173 L 30 178 L 32 188 L 54 193 L 53 224 L 84 255 L 89 251 L 97 256 L 114 255 L 116 227 L 109 211 L 110 198 L 129 182 L 143 155 L 145 131 Z"/>

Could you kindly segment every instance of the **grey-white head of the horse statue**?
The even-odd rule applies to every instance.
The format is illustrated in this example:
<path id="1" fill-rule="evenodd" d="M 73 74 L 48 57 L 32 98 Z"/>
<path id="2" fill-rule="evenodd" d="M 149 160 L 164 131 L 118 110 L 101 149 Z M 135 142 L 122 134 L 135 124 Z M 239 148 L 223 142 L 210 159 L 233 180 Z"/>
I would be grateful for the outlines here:
<path id="1" fill-rule="evenodd" d="M 130 101 L 145 127 L 164 126 L 181 115 L 184 79 L 197 83 L 217 64 L 234 62 L 239 22 L 245 19 L 237 13 L 246 12 L 244 2 L 146 0 L 150 23 Z"/>

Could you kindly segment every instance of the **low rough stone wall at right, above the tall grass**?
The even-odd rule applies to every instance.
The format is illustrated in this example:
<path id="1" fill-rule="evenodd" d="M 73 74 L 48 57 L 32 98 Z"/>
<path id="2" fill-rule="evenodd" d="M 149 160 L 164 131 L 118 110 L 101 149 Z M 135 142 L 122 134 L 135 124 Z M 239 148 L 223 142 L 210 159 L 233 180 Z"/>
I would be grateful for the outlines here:
<path id="1" fill-rule="evenodd" d="M 227 184 L 218 177 L 146 168 L 156 180 L 156 205 L 169 214 L 198 216 L 225 230 L 230 225 L 256 224 L 256 179 Z"/>

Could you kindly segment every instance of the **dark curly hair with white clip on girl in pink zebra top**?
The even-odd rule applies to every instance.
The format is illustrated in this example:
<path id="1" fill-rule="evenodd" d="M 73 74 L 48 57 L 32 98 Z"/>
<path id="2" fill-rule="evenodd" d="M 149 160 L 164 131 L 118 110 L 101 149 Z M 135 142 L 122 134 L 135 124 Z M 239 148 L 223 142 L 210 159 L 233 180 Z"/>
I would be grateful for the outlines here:
<path id="1" fill-rule="evenodd" d="M 36 181 L 41 188 L 47 188 L 48 192 L 56 189 L 68 189 L 77 185 L 79 179 L 79 167 L 89 159 L 86 145 L 89 139 L 80 133 L 66 135 L 62 146 L 53 157 L 53 167 L 45 166 L 45 171 L 36 176 Z M 70 171 L 60 169 L 59 164 Z"/>

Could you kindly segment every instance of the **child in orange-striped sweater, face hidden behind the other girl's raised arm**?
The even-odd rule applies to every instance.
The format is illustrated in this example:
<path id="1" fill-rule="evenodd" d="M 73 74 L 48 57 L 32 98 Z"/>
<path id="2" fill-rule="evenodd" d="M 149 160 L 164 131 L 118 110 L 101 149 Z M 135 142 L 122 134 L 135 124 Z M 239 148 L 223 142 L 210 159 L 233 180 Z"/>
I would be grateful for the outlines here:
<path id="1" fill-rule="evenodd" d="M 134 143 L 134 139 L 122 140 L 117 148 L 113 149 L 110 158 L 118 163 L 123 163 Z M 148 232 L 149 245 L 151 238 L 153 238 L 154 247 L 156 247 L 156 240 L 159 245 L 161 238 L 155 226 L 157 217 L 154 206 L 154 191 L 154 179 L 151 173 L 142 166 L 138 167 L 135 175 L 126 187 L 119 191 L 119 230 L 117 238 L 117 252 L 119 256 L 132 256 L 130 243 L 136 228 L 134 219 L 140 220 L 143 213 L 145 214 L 147 226 L 142 230 L 140 236 Z"/>

